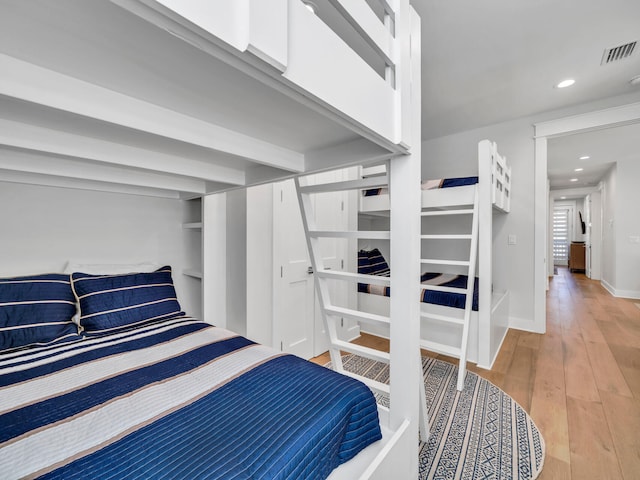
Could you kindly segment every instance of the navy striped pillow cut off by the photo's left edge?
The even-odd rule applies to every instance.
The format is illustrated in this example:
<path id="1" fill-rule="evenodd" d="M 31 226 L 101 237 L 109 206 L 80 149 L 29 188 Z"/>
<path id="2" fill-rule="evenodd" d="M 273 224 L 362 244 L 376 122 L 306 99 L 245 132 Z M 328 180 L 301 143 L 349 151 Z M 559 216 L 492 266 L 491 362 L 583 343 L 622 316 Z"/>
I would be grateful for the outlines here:
<path id="1" fill-rule="evenodd" d="M 0 352 L 80 338 L 75 311 L 69 275 L 0 279 Z"/>

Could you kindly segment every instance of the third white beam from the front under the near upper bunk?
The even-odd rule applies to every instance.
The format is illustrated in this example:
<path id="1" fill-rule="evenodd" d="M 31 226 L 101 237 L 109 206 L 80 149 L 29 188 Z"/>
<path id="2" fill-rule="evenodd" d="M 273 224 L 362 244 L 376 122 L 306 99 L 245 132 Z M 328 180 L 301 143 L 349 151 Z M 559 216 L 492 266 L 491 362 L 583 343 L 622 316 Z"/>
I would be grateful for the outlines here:
<path id="1" fill-rule="evenodd" d="M 176 192 L 206 193 L 206 185 L 202 180 L 123 169 L 87 160 L 51 157 L 23 150 L 0 149 L 0 169 Z"/>

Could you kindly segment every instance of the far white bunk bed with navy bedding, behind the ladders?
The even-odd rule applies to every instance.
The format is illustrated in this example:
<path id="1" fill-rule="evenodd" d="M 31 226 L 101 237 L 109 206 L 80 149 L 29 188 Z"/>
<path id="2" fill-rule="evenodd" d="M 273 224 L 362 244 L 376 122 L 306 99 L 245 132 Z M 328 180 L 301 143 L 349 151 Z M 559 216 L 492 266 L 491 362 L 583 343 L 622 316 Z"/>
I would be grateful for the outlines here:
<path id="1" fill-rule="evenodd" d="M 382 174 L 386 167 L 378 165 L 362 169 L 364 177 L 375 177 Z M 435 210 L 436 213 L 446 214 L 447 209 L 456 208 L 459 205 L 473 205 L 474 189 L 478 186 L 478 275 L 473 282 L 473 301 L 469 324 L 469 340 L 467 346 L 468 359 L 484 368 L 491 368 L 500 345 L 507 332 L 509 294 L 507 286 L 493 276 L 493 251 L 500 248 L 494 245 L 493 238 L 493 212 L 498 215 L 508 213 L 511 202 L 511 168 L 506 158 L 498 153 L 497 145 L 488 140 L 478 144 L 478 175 L 451 179 L 434 179 L 422 182 L 422 208 Z M 388 213 L 389 192 L 385 189 L 364 190 L 360 196 L 359 214 L 370 221 L 384 222 Z M 445 215 L 446 216 L 446 215 Z M 450 220 L 445 220 L 450 221 Z M 437 228 L 442 229 L 441 224 Z M 450 224 L 449 224 L 450 225 Z M 431 226 L 423 227 L 423 233 Z M 444 229 L 450 228 L 444 226 Z M 432 233 L 432 232 L 430 232 Z M 428 235 L 425 235 L 428 236 Z M 423 236 L 424 237 L 424 236 Z M 447 239 L 448 240 L 448 239 Z M 423 240 L 424 241 L 424 240 Z M 451 241 L 448 240 L 448 243 Z M 386 245 L 383 242 L 368 241 L 362 245 L 363 249 L 359 258 L 378 257 L 382 259 L 372 260 L 370 263 L 378 265 L 373 273 L 388 275 L 389 268 L 386 264 Z M 448 253 L 439 253 L 441 258 L 447 255 L 465 257 L 450 245 L 435 247 L 446 250 Z M 430 253 L 433 255 L 433 252 Z M 443 256 L 444 255 L 444 256 Z M 455 263 L 453 261 L 452 263 Z M 367 265 L 367 262 L 362 262 Z M 461 265 L 445 267 L 443 271 L 434 271 L 433 265 L 424 262 L 421 280 L 426 283 L 442 287 L 453 287 L 456 290 L 468 285 L 468 277 L 461 272 Z M 439 263 L 439 262 L 434 262 Z M 378 295 L 370 295 L 370 292 Z M 359 287 L 358 301 L 361 307 L 368 312 L 384 314 L 388 311 L 388 290 L 381 290 L 375 286 L 361 284 Z M 380 296 L 382 295 L 382 297 Z M 423 290 L 421 293 L 421 311 L 423 321 L 421 325 L 421 344 L 424 348 L 452 356 L 459 356 L 455 348 L 460 343 L 462 327 L 451 325 L 443 321 L 437 321 L 429 316 L 454 317 L 462 319 L 465 312 L 465 295 L 459 291 L 432 291 Z M 369 329 L 365 331 L 378 335 L 385 335 L 381 329 Z"/>

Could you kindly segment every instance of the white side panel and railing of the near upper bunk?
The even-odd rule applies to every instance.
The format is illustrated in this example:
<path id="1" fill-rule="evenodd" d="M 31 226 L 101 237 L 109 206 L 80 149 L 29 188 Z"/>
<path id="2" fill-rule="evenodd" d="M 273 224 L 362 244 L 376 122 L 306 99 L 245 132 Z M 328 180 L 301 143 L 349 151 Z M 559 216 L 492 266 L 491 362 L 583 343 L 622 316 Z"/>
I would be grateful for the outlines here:
<path id="1" fill-rule="evenodd" d="M 111 1 L 231 53 L 392 152 L 411 144 L 409 0 Z"/>

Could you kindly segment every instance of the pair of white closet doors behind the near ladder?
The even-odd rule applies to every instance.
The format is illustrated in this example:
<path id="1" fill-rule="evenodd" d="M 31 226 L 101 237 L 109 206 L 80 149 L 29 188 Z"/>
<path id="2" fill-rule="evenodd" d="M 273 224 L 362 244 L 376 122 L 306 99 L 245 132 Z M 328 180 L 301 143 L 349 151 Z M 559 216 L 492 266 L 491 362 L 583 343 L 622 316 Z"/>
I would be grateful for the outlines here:
<path id="1" fill-rule="evenodd" d="M 337 182 L 346 178 L 343 171 L 326 172 L 307 177 L 308 183 Z M 348 193 L 333 192 L 313 198 L 315 223 L 321 230 L 355 230 L 349 225 Z M 355 218 L 355 217 L 354 217 Z M 276 184 L 274 189 L 274 344 L 283 351 L 311 358 L 329 349 L 324 320 L 315 299 L 314 277 L 302 227 L 300 208 L 293 181 Z M 356 248 L 344 239 L 320 239 L 325 268 L 345 270 L 349 255 L 356 259 Z M 355 245 L 355 244 L 354 244 Z M 351 253 L 349 253 L 351 252 Z M 354 308 L 355 284 L 335 282 L 331 299 L 335 305 Z M 344 340 L 359 335 L 354 320 L 338 323 L 338 334 Z"/>

